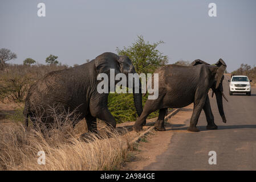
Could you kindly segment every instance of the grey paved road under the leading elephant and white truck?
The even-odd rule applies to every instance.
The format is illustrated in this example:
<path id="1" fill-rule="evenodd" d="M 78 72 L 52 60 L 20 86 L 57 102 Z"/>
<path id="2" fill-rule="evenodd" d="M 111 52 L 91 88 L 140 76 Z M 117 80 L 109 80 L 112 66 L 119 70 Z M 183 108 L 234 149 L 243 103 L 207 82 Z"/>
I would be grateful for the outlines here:
<path id="1" fill-rule="evenodd" d="M 168 150 L 145 170 L 256 170 L 256 89 L 251 96 L 229 96 L 224 79 L 224 111 L 227 123 L 218 114 L 217 103 L 210 99 L 218 130 L 206 130 L 202 111 L 199 133 L 174 133 Z M 185 122 L 186 127 L 189 121 Z M 209 151 L 216 151 L 217 164 L 209 165 Z"/>

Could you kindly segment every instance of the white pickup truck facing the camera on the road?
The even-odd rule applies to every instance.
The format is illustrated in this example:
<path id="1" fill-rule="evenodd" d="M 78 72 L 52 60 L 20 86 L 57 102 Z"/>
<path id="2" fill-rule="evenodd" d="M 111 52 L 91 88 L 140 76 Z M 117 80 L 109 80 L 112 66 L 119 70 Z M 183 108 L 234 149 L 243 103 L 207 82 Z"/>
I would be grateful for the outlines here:
<path id="1" fill-rule="evenodd" d="M 251 95 L 251 80 L 247 76 L 233 76 L 229 80 L 229 95 L 233 93 L 246 93 L 247 96 Z"/>

